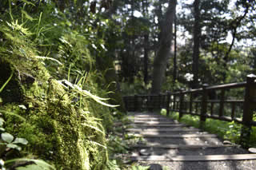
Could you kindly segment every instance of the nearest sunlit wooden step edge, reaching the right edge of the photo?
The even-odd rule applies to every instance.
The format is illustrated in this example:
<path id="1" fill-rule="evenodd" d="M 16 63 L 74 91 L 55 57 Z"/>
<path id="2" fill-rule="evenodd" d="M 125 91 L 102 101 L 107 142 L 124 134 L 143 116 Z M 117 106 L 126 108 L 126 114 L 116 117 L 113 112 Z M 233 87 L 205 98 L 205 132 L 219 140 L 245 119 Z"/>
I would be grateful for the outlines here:
<path id="1" fill-rule="evenodd" d="M 157 161 L 214 161 L 214 160 L 256 160 L 256 154 L 208 155 L 208 156 L 131 156 L 131 160 Z"/>

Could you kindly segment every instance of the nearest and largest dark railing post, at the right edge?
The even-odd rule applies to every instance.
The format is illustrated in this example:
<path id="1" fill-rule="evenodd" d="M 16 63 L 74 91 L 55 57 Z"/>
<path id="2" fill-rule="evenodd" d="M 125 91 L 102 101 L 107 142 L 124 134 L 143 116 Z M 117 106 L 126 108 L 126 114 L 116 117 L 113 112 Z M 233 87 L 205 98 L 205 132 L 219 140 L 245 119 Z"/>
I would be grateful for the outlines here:
<path id="1" fill-rule="evenodd" d="M 250 130 L 251 122 L 253 120 L 255 99 L 256 99 L 256 85 L 255 85 L 256 76 L 250 74 L 246 77 L 246 94 L 243 104 L 243 114 L 242 114 L 242 129 L 240 142 L 243 146 L 248 144 L 250 140 Z"/>

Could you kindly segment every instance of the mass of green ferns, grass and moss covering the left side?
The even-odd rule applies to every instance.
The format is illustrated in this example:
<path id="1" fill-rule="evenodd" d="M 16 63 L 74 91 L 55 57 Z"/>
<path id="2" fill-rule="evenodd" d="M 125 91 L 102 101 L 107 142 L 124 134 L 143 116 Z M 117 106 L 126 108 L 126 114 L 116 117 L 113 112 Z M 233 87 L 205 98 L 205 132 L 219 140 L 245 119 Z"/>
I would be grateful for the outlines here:
<path id="1" fill-rule="evenodd" d="M 10 85 L 16 85 L 22 97 L 19 103 L 2 97 L 1 113 L 10 132 L 2 133 L 4 143 L 15 148 L 28 140 L 21 156 L 50 161 L 57 169 L 105 169 L 106 131 L 113 123 L 106 106 L 114 105 L 107 104 L 108 92 L 101 89 L 104 77 L 95 70 L 90 54 L 105 48 L 103 39 L 97 38 L 93 25 L 76 28 L 68 19 L 72 12 L 63 14 L 52 2 L 40 1 L 36 8 L 26 1 L 23 6 L 10 2 L 10 16 L 0 18 L 0 57 L 10 65 L 1 73 L 6 77 L 0 78 L 1 91 L 8 93 Z M 28 83 L 26 75 L 34 81 Z M 34 159 L 20 161 L 34 164 L 19 169 L 50 169 Z"/>

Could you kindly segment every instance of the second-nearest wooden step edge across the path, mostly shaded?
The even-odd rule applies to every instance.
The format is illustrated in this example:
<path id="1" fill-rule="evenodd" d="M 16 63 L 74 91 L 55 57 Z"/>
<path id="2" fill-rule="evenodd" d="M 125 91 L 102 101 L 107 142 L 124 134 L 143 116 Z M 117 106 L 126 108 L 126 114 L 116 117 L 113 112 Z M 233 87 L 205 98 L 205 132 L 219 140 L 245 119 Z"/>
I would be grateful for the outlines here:
<path id="1" fill-rule="evenodd" d="M 134 144 L 131 145 L 131 148 L 226 148 L 238 146 L 235 144 L 225 144 L 225 145 L 202 145 L 202 144 Z"/>

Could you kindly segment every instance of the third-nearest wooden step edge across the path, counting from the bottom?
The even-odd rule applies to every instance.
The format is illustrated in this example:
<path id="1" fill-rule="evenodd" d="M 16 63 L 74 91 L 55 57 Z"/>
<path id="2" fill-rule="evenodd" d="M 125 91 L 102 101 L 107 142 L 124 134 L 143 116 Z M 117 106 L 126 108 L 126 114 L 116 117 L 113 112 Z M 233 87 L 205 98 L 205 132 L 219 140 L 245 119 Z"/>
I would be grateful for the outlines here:
<path id="1" fill-rule="evenodd" d="M 215 134 L 185 134 L 185 135 L 150 135 L 150 134 L 134 134 L 134 133 L 128 133 L 128 135 L 133 135 L 133 136 L 142 136 L 142 137 L 168 137 L 168 138 L 188 138 L 188 137 L 218 137 Z"/>

